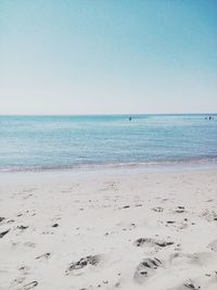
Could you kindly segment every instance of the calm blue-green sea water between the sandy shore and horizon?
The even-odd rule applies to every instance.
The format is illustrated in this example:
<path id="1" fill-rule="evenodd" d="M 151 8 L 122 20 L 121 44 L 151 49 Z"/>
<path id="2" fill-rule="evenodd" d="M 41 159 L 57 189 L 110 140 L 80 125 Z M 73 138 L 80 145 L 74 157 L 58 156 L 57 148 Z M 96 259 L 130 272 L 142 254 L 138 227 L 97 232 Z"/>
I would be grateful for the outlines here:
<path id="1" fill-rule="evenodd" d="M 0 172 L 217 164 L 217 114 L 205 117 L 0 116 Z"/>

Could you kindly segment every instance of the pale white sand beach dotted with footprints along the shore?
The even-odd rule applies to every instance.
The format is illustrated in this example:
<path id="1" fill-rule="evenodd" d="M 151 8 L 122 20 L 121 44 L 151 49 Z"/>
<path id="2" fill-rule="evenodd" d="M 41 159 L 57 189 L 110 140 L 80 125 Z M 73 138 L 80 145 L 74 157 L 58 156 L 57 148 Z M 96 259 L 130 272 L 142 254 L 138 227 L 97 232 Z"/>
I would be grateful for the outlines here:
<path id="1" fill-rule="evenodd" d="M 0 217 L 1 290 L 217 289 L 217 171 L 2 174 Z"/>

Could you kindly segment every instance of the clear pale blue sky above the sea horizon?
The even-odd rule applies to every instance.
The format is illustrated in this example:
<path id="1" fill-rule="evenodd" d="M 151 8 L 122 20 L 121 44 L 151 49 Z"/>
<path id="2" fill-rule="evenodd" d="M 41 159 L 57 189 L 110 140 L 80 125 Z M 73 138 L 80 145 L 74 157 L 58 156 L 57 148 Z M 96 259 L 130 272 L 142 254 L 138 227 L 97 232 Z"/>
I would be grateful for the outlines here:
<path id="1" fill-rule="evenodd" d="M 217 1 L 0 0 L 0 114 L 217 112 Z"/>

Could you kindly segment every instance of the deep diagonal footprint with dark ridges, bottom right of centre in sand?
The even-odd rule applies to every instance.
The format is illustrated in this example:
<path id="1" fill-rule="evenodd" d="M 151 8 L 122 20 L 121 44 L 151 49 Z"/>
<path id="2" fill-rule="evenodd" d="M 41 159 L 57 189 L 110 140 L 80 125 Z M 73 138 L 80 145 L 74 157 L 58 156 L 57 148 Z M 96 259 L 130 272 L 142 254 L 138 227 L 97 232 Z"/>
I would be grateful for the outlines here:
<path id="1" fill-rule="evenodd" d="M 136 268 L 133 280 L 138 283 L 143 283 L 146 279 L 154 276 L 163 263 L 154 259 L 144 259 Z"/>

